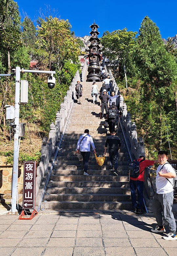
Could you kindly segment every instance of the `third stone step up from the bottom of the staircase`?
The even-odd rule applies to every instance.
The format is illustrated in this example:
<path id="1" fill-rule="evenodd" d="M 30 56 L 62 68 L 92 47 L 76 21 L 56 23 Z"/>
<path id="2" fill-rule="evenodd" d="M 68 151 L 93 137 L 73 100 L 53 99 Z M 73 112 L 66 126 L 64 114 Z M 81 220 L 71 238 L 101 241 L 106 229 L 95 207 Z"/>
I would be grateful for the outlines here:
<path id="1" fill-rule="evenodd" d="M 47 189 L 47 194 L 127 194 L 129 187 L 52 187 Z"/>

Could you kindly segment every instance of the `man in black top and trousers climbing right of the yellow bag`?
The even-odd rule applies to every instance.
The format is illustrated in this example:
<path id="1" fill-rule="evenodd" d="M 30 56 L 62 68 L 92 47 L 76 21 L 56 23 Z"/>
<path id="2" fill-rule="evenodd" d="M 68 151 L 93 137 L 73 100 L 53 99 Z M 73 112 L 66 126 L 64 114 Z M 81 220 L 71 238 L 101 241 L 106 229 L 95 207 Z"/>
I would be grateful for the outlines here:
<path id="1" fill-rule="evenodd" d="M 115 136 L 115 131 L 111 132 L 111 135 L 107 138 L 106 143 L 105 143 L 105 154 L 106 154 L 106 149 L 109 145 L 109 165 L 110 169 L 109 171 L 113 171 L 113 159 L 114 159 L 114 174 L 117 174 L 117 167 L 118 167 L 118 150 L 119 147 L 121 146 L 121 142 L 118 136 Z"/>

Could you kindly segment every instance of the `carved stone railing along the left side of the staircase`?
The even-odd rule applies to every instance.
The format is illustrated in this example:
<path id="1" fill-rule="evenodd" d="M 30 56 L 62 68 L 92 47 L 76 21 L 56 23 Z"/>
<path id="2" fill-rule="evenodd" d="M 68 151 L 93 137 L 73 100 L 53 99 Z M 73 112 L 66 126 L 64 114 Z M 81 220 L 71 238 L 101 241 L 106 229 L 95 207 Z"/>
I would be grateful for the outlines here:
<path id="1" fill-rule="evenodd" d="M 42 141 L 41 160 L 36 171 L 36 206 L 39 206 L 42 201 L 43 193 L 49 181 L 49 176 L 58 152 L 58 145 L 60 145 L 65 132 L 75 98 L 75 84 L 77 80 L 80 80 L 79 71 L 76 72 L 63 102 L 60 104 L 60 111 L 56 113 L 55 123 L 51 123 L 50 125 L 49 139 L 45 137 Z"/>

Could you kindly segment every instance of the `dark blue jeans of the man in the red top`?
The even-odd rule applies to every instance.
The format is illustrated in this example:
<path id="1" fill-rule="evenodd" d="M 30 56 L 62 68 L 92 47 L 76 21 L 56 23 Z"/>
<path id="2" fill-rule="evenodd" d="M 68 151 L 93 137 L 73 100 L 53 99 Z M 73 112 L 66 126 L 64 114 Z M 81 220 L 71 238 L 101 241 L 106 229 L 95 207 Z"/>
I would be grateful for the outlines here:
<path id="1" fill-rule="evenodd" d="M 144 181 L 130 180 L 131 202 L 132 202 L 133 208 L 138 208 L 138 209 L 143 208 L 143 186 L 144 186 Z M 138 193 L 138 204 L 136 203 L 136 190 Z"/>

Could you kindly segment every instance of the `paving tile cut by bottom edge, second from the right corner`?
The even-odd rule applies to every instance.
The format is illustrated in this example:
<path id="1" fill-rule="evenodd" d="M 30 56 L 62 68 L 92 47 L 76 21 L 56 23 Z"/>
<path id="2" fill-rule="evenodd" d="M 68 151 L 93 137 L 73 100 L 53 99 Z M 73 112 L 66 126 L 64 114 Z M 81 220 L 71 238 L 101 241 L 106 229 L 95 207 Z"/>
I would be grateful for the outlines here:
<path id="1" fill-rule="evenodd" d="M 136 251 L 137 256 L 167 256 L 167 254 L 165 253 L 165 251 L 163 250 L 163 248 L 142 248 L 142 247 L 135 247 L 134 248 Z M 168 255 L 170 256 L 170 255 Z M 172 255 L 171 255 L 172 256 Z M 174 250 L 173 250 L 173 256 L 174 256 Z"/>

